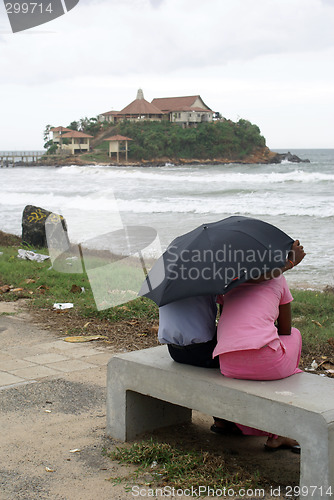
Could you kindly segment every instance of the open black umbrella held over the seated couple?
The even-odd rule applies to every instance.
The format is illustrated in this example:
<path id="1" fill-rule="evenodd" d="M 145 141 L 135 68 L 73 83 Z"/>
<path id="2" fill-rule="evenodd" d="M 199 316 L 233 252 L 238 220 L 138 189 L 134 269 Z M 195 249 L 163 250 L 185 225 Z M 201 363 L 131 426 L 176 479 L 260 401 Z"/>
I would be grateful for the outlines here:
<path id="1" fill-rule="evenodd" d="M 282 267 L 293 239 L 267 222 L 233 216 L 179 236 L 155 263 L 139 295 L 163 306 L 222 294 Z"/>

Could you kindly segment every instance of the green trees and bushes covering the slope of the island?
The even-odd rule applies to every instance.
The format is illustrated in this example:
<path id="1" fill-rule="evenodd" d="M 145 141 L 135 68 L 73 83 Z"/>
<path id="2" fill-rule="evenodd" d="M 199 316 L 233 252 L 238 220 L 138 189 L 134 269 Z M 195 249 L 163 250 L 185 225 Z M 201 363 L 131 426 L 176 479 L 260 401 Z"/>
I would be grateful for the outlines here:
<path id="1" fill-rule="evenodd" d="M 50 125 L 46 126 L 45 139 L 49 137 L 51 128 Z M 106 125 L 95 117 L 84 117 L 71 122 L 67 128 L 94 136 L 93 148 L 100 155 L 106 155 L 107 151 L 104 139 L 108 130 L 104 129 L 111 129 L 109 135 L 130 137 L 132 141 L 129 159 L 135 161 L 159 158 L 236 161 L 266 146 L 259 127 L 244 119 L 233 122 L 219 117 L 212 122 L 183 128 L 168 120 L 152 122 L 124 120 L 117 124 Z M 66 138 L 63 141 L 65 143 Z M 52 140 L 48 140 L 44 147 L 48 149 L 48 154 L 51 154 L 57 151 L 58 146 Z"/>

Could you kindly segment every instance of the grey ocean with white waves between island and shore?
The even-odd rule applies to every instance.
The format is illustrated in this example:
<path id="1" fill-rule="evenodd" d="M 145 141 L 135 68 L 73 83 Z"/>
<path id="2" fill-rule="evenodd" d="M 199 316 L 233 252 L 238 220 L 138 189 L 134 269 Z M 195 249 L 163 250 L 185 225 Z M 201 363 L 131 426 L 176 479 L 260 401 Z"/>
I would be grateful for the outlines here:
<path id="1" fill-rule="evenodd" d="M 64 215 L 71 241 L 88 246 L 103 248 L 100 236 L 124 225 L 150 226 L 157 253 L 202 223 L 255 217 L 304 245 L 290 285 L 334 286 L 334 149 L 291 153 L 310 163 L 0 168 L 0 229 L 20 235 L 24 207 L 36 205 Z"/>

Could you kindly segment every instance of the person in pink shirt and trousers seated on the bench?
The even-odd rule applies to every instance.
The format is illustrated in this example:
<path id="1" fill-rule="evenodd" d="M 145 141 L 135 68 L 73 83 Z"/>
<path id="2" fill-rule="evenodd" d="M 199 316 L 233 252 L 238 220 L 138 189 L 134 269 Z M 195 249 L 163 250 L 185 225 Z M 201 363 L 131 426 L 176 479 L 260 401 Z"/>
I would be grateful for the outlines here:
<path id="1" fill-rule="evenodd" d="M 304 256 L 303 247 L 296 240 L 286 269 L 297 265 Z M 220 371 L 225 377 L 278 380 L 301 372 L 298 364 L 302 339 L 299 330 L 291 326 L 293 297 L 282 274 L 286 269 L 249 280 L 218 297 L 223 308 L 213 357 L 219 356 Z M 217 431 L 224 424 L 216 419 L 213 427 Z M 294 451 L 298 451 L 298 443 L 292 439 L 236 425 L 245 435 L 268 436 L 267 450 L 295 447 Z"/>

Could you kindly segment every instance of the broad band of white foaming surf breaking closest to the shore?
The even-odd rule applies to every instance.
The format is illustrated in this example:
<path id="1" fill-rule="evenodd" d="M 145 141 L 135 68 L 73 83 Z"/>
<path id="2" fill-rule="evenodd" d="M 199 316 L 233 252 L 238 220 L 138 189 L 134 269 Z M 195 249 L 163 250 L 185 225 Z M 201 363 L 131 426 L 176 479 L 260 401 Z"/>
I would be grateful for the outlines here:
<path id="1" fill-rule="evenodd" d="M 330 199 L 319 196 L 291 196 L 280 192 L 221 192 L 208 196 L 179 195 L 171 196 L 169 191 L 160 196 L 154 196 L 147 191 L 140 196 L 115 199 L 111 189 L 85 194 L 66 195 L 60 193 L 4 193 L 1 197 L 1 208 L 23 209 L 25 205 L 37 205 L 47 210 L 62 213 L 66 210 L 76 210 L 91 213 L 138 213 L 138 214 L 220 214 L 227 210 L 236 214 L 248 215 L 291 215 L 326 218 L 334 216 L 334 203 Z M 179 194 L 179 193 L 178 193 Z M 146 195 L 146 196 L 145 196 Z M 224 195 L 224 196 L 223 196 Z"/>

